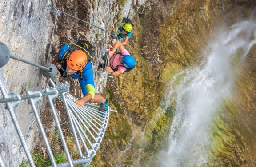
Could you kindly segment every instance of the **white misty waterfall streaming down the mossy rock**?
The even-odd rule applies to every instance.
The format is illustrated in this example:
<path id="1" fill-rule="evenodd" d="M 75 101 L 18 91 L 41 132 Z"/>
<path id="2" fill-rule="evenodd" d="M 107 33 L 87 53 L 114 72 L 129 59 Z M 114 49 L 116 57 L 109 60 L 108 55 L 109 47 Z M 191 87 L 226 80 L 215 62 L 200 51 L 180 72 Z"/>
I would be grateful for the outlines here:
<path id="1" fill-rule="evenodd" d="M 209 130 L 222 101 L 232 93 L 238 59 L 243 62 L 256 43 L 256 23 L 250 19 L 218 28 L 214 40 L 202 53 L 203 61 L 188 68 L 170 97 L 176 100 L 169 146 L 160 155 L 160 166 L 190 167 L 208 163 L 211 155 Z M 241 51 L 242 52 L 238 52 Z M 237 58 L 237 54 L 239 58 Z"/>

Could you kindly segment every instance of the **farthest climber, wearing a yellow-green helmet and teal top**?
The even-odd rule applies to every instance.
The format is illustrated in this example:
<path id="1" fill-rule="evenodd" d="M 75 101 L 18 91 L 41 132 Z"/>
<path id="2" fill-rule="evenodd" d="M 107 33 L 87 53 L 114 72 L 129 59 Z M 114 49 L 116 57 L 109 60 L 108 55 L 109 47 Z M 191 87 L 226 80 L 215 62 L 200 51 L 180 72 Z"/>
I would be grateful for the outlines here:
<path id="1" fill-rule="evenodd" d="M 126 45 L 129 38 L 132 36 L 132 21 L 128 18 L 123 18 L 121 26 L 118 28 L 117 32 L 117 40 L 120 42 L 124 39 L 124 42 L 122 42 L 122 45 Z"/>

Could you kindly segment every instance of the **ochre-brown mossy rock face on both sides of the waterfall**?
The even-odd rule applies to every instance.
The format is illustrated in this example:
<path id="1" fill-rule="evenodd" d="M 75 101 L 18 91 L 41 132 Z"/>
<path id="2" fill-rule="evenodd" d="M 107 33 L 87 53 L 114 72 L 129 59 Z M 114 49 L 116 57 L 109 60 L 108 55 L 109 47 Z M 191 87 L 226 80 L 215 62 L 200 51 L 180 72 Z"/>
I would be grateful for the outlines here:
<path id="1" fill-rule="evenodd" d="M 175 103 L 163 104 L 173 76 L 201 61 L 201 50 L 214 38 L 218 25 L 248 19 L 255 3 L 148 0 L 140 19 L 133 16 L 133 35 L 125 46 L 136 58 L 136 67 L 108 81 L 105 93 L 120 112 L 111 115 L 108 140 L 93 164 L 160 166 L 159 151 L 168 146 L 174 114 Z M 243 72 L 237 74 L 236 95 L 223 103 L 212 123 L 213 156 L 206 166 L 255 165 L 254 61 L 252 47 Z"/>

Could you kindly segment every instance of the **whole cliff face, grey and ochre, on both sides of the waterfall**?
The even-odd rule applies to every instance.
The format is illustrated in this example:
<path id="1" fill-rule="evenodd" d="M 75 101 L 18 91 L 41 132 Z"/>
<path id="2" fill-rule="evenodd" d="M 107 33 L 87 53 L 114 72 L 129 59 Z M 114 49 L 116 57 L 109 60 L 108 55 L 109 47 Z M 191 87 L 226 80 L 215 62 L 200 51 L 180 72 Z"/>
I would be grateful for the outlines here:
<path id="1" fill-rule="evenodd" d="M 4 11 L 0 12 L 0 40 L 8 45 L 13 55 L 37 64 L 46 63 L 55 19 L 55 15 L 47 11 L 48 3 L 44 0 L 0 3 Z M 109 31 L 115 31 L 118 26 L 116 13 L 120 7 L 117 3 L 115 0 L 55 1 L 57 9 Z M 92 162 L 95 166 L 159 166 L 159 152 L 168 145 L 174 114 L 175 103 L 165 103 L 174 75 L 200 62 L 200 51 L 214 38 L 216 25 L 232 25 L 247 19 L 256 6 L 255 0 L 148 0 L 144 13 L 139 14 L 136 11 L 144 0 L 129 3 L 132 10 L 128 17 L 132 18 L 135 27 L 125 48 L 135 57 L 136 67 L 116 79 L 108 79 L 104 95 L 110 99 L 111 107 L 119 112 L 110 117 L 102 147 Z M 97 46 L 92 62 L 96 72 L 106 38 L 108 33 L 61 14 L 57 18 L 49 61 L 57 55 L 61 45 L 77 39 L 89 40 Z M 206 166 L 255 165 L 255 55 L 256 47 L 253 46 L 241 72 L 236 74 L 236 95 L 223 103 L 212 123 L 213 156 Z M 10 60 L 0 69 L 0 74 L 3 71 L 5 76 L 0 75 L 0 79 L 8 92 L 23 94 L 27 90 L 40 89 L 42 76 L 37 68 Z M 95 79 L 96 91 L 102 92 L 106 78 L 95 73 Z M 64 81 L 61 77 L 59 80 Z M 80 89 L 76 88 L 78 82 L 68 81 L 71 93 L 81 96 Z M 44 118 L 47 111 L 44 106 L 41 108 Z M 33 118 L 29 115 L 30 110 L 25 102 L 16 109 L 24 135 Z M 20 144 L 4 105 L 0 105 L 0 125 L 1 156 L 6 166 L 18 166 L 18 158 L 22 159 L 17 155 Z M 49 121 L 44 125 L 54 123 Z M 29 145 L 32 145 L 31 140 Z"/>

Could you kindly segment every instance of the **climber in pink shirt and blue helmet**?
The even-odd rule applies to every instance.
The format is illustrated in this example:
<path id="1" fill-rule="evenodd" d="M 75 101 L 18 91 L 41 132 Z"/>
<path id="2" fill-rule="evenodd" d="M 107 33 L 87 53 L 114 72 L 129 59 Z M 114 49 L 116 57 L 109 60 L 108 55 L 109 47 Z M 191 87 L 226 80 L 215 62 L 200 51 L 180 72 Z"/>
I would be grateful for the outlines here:
<path id="1" fill-rule="evenodd" d="M 116 52 L 117 48 L 121 52 Z M 105 59 L 104 56 L 102 56 Z M 129 52 L 124 48 L 124 45 L 120 41 L 116 41 L 112 51 L 110 51 L 109 67 L 106 67 L 106 71 L 110 72 L 113 77 L 119 76 L 123 72 L 131 71 L 135 66 L 135 59 L 130 56 Z M 100 64 L 100 68 L 104 68 L 104 64 Z"/>

